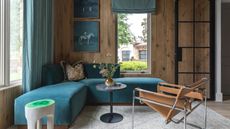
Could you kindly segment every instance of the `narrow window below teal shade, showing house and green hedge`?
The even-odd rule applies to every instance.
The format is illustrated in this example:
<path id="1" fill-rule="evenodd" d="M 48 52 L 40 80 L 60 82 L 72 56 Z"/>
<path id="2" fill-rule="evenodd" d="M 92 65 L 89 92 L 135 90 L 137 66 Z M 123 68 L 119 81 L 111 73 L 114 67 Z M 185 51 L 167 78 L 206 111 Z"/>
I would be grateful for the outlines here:
<path id="1" fill-rule="evenodd" d="M 149 73 L 151 14 L 117 14 L 117 58 L 121 72 Z"/>

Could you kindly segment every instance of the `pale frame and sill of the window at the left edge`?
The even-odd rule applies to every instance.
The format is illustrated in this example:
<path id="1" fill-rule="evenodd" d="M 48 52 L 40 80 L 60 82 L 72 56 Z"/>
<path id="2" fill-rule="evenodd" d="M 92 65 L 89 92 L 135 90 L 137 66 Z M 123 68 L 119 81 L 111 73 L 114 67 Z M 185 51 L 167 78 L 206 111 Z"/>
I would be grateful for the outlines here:
<path id="1" fill-rule="evenodd" d="M 10 0 L 0 0 L 0 87 L 16 83 L 10 81 Z"/>

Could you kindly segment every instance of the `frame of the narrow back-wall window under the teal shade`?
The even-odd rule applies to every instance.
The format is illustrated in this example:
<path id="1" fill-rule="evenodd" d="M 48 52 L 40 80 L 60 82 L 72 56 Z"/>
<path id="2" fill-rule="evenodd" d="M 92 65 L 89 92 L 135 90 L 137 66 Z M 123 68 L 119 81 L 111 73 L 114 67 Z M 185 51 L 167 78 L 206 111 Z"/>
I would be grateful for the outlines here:
<path id="1" fill-rule="evenodd" d="M 139 13 L 133 13 L 139 14 Z M 147 70 L 143 71 L 120 71 L 121 74 L 152 74 L 152 65 L 151 65 L 151 53 L 152 53 L 152 14 L 151 13 L 143 13 L 147 14 Z M 116 62 L 119 63 L 118 59 L 118 16 L 119 13 L 116 13 Z"/>

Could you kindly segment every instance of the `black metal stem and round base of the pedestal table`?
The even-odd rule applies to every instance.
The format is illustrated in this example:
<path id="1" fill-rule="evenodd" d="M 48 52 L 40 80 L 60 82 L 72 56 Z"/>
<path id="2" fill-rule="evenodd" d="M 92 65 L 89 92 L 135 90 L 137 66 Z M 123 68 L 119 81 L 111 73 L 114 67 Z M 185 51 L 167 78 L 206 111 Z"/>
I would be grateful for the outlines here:
<path id="1" fill-rule="evenodd" d="M 106 113 L 100 117 L 100 120 L 105 123 L 117 123 L 123 120 L 123 116 L 118 113 L 113 113 L 113 92 L 109 92 L 110 113 Z"/>

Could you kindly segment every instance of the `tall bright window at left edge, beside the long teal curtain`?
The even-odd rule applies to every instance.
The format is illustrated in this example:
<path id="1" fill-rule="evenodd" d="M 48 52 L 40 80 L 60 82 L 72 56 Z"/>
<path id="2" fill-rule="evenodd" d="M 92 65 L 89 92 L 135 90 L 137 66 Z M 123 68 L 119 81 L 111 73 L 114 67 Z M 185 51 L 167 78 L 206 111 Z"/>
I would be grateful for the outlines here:
<path id="1" fill-rule="evenodd" d="M 0 86 L 22 79 L 23 0 L 0 0 Z"/>

